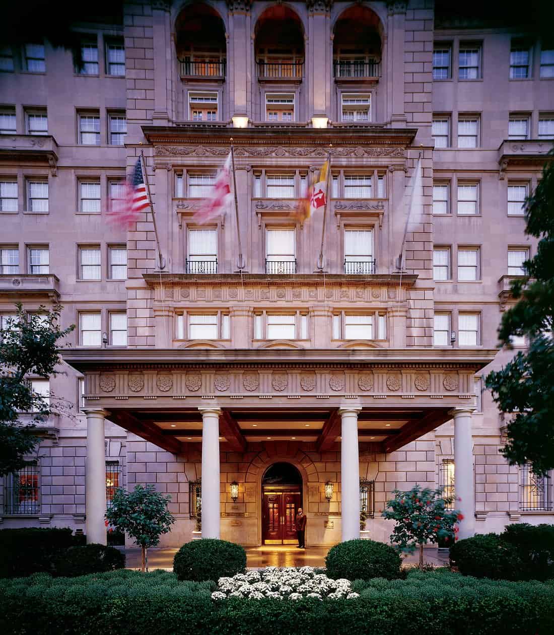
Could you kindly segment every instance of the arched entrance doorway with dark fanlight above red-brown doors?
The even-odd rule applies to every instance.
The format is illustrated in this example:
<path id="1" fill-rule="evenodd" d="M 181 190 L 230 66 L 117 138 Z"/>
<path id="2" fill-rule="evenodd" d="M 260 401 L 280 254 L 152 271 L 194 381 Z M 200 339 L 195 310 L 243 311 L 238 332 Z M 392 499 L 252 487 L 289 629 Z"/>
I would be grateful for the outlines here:
<path id="1" fill-rule="evenodd" d="M 299 507 L 302 507 L 300 472 L 290 463 L 274 463 L 262 478 L 262 544 L 294 544 Z"/>

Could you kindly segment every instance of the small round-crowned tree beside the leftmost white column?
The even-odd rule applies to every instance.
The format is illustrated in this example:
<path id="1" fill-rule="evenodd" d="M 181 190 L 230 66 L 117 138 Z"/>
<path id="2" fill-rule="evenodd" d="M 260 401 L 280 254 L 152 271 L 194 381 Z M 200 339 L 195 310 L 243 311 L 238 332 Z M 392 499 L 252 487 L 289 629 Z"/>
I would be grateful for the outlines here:
<path id="1" fill-rule="evenodd" d="M 105 514 L 116 530 L 125 531 L 142 549 L 142 572 L 147 570 L 146 550 L 159 545 L 159 537 L 168 533 L 175 518 L 167 509 L 171 497 L 163 496 L 153 485 L 135 485 L 133 491 L 118 488 Z"/>

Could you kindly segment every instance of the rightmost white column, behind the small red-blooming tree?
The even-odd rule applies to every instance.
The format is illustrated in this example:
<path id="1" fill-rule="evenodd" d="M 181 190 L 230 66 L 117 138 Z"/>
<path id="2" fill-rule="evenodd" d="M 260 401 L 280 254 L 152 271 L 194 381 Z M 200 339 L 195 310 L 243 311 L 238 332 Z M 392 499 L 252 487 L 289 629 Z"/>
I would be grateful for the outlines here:
<path id="1" fill-rule="evenodd" d="M 464 519 L 459 522 L 458 538 L 475 535 L 475 479 L 473 478 L 473 438 L 471 436 L 471 413 L 475 408 L 454 408 L 449 415 L 454 417 L 454 506 Z"/>

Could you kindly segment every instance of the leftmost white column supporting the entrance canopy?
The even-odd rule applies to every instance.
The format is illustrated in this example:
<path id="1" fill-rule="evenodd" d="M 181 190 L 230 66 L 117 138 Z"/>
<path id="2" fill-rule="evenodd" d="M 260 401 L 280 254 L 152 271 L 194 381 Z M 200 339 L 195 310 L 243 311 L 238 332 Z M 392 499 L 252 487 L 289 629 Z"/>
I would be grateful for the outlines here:
<path id="1" fill-rule="evenodd" d="M 86 542 L 106 544 L 106 459 L 104 418 L 102 408 L 85 408 L 86 413 L 86 475 L 84 505 L 86 512 Z"/>

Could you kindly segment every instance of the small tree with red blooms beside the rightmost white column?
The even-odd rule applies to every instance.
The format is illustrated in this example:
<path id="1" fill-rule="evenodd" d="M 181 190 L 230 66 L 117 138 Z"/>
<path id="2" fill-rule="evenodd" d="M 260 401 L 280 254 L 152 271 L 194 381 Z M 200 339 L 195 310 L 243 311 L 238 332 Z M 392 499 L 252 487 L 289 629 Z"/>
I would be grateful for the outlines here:
<path id="1" fill-rule="evenodd" d="M 396 521 L 391 542 L 397 549 L 413 553 L 419 547 L 419 568 L 423 569 L 423 545 L 443 540 L 448 543 L 457 533 L 456 523 L 464 516 L 456 509 L 446 509 L 452 498 L 442 490 L 429 490 L 416 485 L 410 491 L 394 490 L 395 497 L 387 501 L 384 518 Z M 457 540 L 457 537 L 456 537 Z"/>

